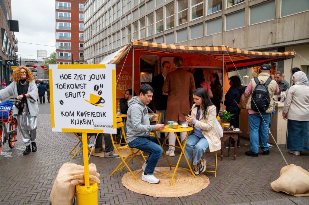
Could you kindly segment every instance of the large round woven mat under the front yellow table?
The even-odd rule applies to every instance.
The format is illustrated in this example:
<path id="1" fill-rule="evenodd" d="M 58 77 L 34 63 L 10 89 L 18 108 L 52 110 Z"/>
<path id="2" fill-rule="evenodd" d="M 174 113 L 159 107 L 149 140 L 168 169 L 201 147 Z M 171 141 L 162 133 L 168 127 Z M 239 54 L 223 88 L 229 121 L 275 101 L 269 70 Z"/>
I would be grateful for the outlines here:
<path id="1" fill-rule="evenodd" d="M 173 174 L 175 168 L 172 167 L 156 167 L 160 171 Z M 133 173 L 137 173 L 140 170 L 136 170 Z M 179 197 L 188 196 L 200 192 L 209 185 L 209 178 L 204 174 L 194 178 L 193 175 L 183 169 L 178 168 L 174 177 L 173 186 L 171 186 L 172 178 L 165 174 L 156 173 L 155 177 L 160 179 L 158 184 L 150 184 L 142 181 L 142 172 L 136 175 L 137 180 L 133 178 L 130 172 L 123 175 L 121 182 L 127 189 L 137 192 L 139 194 L 145 194 L 154 197 Z"/>

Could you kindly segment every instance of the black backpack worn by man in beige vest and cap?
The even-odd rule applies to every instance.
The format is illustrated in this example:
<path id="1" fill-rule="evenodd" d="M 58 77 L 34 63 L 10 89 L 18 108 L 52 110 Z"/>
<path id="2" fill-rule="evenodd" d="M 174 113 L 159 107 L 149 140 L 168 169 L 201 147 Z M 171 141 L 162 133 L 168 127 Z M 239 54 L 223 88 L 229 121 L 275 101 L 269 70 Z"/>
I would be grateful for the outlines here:
<path id="1" fill-rule="evenodd" d="M 261 113 L 264 113 L 269 108 L 270 104 L 267 85 L 271 82 L 271 78 L 268 78 L 266 83 L 261 80 L 260 82 L 263 82 L 263 84 L 260 84 L 257 77 L 254 78 L 254 81 L 256 82 L 256 87 L 252 92 L 251 109 L 255 112 L 260 111 Z"/>

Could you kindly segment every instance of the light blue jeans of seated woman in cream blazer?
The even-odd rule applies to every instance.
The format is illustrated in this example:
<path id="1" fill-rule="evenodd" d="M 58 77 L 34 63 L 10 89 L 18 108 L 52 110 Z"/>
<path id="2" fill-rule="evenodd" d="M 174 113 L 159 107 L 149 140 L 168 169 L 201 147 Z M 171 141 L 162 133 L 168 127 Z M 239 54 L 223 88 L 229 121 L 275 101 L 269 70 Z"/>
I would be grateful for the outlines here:
<path id="1" fill-rule="evenodd" d="M 197 165 L 197 161 L 203 156 L 208 147 L 209 144 L 205 137 L 199 138 L 191 134 L 187 138 L 184 153 L 186 153 L 188 161 L 193 158 L 193 164 Z"/>

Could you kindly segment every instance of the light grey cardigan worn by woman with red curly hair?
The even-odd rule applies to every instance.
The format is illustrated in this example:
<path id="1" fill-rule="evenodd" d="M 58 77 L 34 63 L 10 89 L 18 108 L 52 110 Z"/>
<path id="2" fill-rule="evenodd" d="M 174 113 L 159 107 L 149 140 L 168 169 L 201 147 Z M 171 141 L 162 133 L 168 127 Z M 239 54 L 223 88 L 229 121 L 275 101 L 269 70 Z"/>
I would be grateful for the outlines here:
<path id="1" fill-rule="evenodd" d="M 34 82 L 34 80 L 29 83 L 27 94 L 30 95 L 30 97 L 27 97 L 27 104 L 30 116 L 37 117 L 39 114 L 39 107 L 36 101 L 38 97 L 38 88 L 36 87 L 36 83 Z M 18 96 L 16 81 L 13 81 L 9 86 L 0 90 L 0 100 L 4 100 L 10 96 Z M 13 116 L 16 115 L 18 115 L 18 109 L 13 110 Z"/>

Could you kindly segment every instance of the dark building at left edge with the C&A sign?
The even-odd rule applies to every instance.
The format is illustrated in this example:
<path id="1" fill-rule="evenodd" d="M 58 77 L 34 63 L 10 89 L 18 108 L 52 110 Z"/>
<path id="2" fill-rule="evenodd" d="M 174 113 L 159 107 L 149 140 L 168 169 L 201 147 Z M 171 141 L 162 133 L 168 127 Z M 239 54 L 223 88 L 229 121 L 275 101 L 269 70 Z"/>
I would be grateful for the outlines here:
<path id="1" fill-rule="evenodd" d="M 0 78 L 1 81 L 5 79 L 6 82 L 9 82 L 12 70 L 10 65 L 5 64 L 5 61 L 15 61 L 15 58 L 18 58 L 18 56 L 15 54 L 15 52 L 18 51 L 18 42 L 14 35 L 14 32 L 18 32 L 18 21 L 11 20 L 11 8 L 11 1 L 0 0 Z"/>

